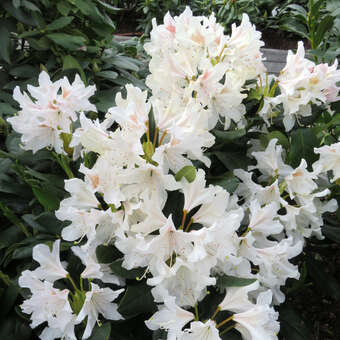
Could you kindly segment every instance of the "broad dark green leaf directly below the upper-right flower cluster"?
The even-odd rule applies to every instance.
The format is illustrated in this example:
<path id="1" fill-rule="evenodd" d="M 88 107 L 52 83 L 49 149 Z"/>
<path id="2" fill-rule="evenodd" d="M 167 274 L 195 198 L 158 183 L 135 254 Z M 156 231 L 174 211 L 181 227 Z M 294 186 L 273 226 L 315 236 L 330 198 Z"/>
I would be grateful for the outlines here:
<path id="1" fill-rule="evenodd" d="M 291 146 L 288 154 L 288 161 L 294 168 L 300 165 L 304 158 L 311 169 L 318 156 L 314 153 L 314 147 L 319 146 L 319 140 L 311 128 L 297 129 L 291 134 Z"/>

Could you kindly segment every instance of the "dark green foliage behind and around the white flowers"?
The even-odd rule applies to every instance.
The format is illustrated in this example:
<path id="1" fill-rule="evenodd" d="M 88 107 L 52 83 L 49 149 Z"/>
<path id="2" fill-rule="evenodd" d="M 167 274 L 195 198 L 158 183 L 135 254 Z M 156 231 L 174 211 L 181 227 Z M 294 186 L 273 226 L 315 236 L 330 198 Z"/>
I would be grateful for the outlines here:
<path id="1" fill-rule="evenodd" d="M 52 244 L 60 238 L 65 223 L 54 216 L 60 200 L 65 198 L 63 171 L 65 158 L 56 158 L 49 150 L 32 154 L 19 145 L 20 136 L 11 132 L 5 119 L 17 112 L 12 91 L 19 85 L 35 84 L 41 70 L 47 70 L 53 80 L 64 75 L 73 78 L 79 73 L 86 84 L 97 86 L 93 102 L 99 117 L 114 105 L 115 93 L 132 82 L 145 88 L 147 73 L 141 42 L 137 39 L 125 43 L 113 41 L 116 23 L 124 15 L 139 18 L 138 30 L 148 33 L 151 18 L 161 22 L 170 10 L 179 14 L 189 1 L 99 1 L 99 0 L 6 0 L 0 3 L 0 339 L 36 339 L 38 329 L 29 327 L 29 319 L 20 311 L 20 303 L 27 291 L 19 289 L 17 278 L 26 268 L 33 268 L 32 248 L 38 243 Z M 260 29 L 281 29 L 310 41 L 313 55 L 320 61 L 334 60 L 340 54 L 340 4 L 332 1 L 190 1 L 195 14 L 216 13 L 217 21 L 226 28 L 240 20 L 242 12 Z M 118 27 L 119 28 L 119 27 Z M 269 133 L 250 131 L 259 124 L 256 116 L 261 98 L 249 100 L 249 125 L 244 130 L 222 131 L 214 134 L 217 143 L 208 150 L 212 167 L 208 171 L 210 183 L 218 184 L 233 192 L 238 180 L 232 175 L 235 168 L 245 168 L 251 161 L 247 156 L 247 141 L 258 138 L 263 145 L 271 138 L 278 138 L 285 148 L 289 163 L 297 166 L 301 158 L 309 165 L 315 161 L 313 148 L 332 144 L 340 136 L 340 105 L 332 105 L 335 115 L 326 110 L 301 122 L 293 133 L 285 133 L 280 117 L 274 121 Z M 97 116 L 91 113 L 92 118 Z M 303 147 L 301 147 L 303 145 Z M 90 160 L 89 160 L 90 161 Z M 202 166 L 197 164 L 197 167 Z M 73 173 L 79 164 L 70 163 Z M 331 197 L 340 204 L 340 186 L 334 184 Z M 290 281 L 286 287 L 287 303 L 280 307 L 281 338 L 289 340 L 312 339 L 314 319 L 304 317 L 301 297 L 311 298 L 320 305 L 321 298 L 340 300 L 337 262 L 340 252 L 340 210 L 325 217 L 323 233 L 326 239 L 312 239 L 306 251 L 295 259 L 300 266 L 301 278 Z M 62 258 L 70 263 L 71 270 L 81 272 L 81 264 L 68 251 L 72 244 L 63 242 Z M 128 272 L 117 260 L 119 253 L 110 247 L 97 249 L 99 259 L 111 263 L 111 269 L 126 277 L 128 290 L 120 301 L 119 311 L 127 321 L 105 323 L 94 329 L 91 339 L 159 339 L 162 332 L 153 335 L 144 326 L 155 310 L 150 288 L 136 282 L 137 272 Z M 334 261 L 332 261 L 334 259 Z M 340 261 L 340 260 L 339 260 Z M 230 284 L 230 281 L 229 281 Z M 213 296 L 203 301 L 200 308 L 206 313 L 216 301 Z M 335 308 L 335 311 L 337 309 Z M 315 317 L 318 317 L 317 310 Z M 133 324 L 133 327 L 131 327 Z M 329 332 L 333 334 L 329 334 Z M 335 329 L 321 329 L 322 339 L 337 339 Z M 327 333 L 328 332 L 328 333 Z M 321 339 L 320 338 L 320 339 Z M 228 333 L 226 339 L 239 339 Z"/>

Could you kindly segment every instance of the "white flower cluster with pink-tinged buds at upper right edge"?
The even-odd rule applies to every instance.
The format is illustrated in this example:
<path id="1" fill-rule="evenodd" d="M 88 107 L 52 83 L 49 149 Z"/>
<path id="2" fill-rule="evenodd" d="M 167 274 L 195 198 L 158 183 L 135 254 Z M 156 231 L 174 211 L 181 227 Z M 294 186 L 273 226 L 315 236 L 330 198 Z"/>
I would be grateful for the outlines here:
<path id="1" fill-rule="evenodd" d="M 288 52 L 286 66 L 277 78 L 281 93 L 276 97 L 265 97 L 266 105 L 260 114 L 267 119 L 277 105 L 283 104 L 283 124 L 286 131 L 291 130 L 298 117 L 312 115 L 311 103 L 331 103 L 340 99 L 340 88 L 336 86 L 340 81 L 337 66 L 337 59 L 332 66 L 315 65 L 306 59 L 300 41 L 296 54 Z"/>

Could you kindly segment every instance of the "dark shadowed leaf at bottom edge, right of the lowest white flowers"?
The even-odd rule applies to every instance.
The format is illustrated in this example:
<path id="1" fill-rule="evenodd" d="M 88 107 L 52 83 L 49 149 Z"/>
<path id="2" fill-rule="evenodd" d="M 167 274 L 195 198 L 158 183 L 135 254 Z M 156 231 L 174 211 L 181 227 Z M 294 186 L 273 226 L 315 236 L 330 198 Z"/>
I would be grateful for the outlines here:
<path id="1" fill-rule="evenodd" d="M 280 335 L 283 339 L 307 340 L 312 339 L 309 329 L 300 315 L 289 306 L 279 309 Z"/>

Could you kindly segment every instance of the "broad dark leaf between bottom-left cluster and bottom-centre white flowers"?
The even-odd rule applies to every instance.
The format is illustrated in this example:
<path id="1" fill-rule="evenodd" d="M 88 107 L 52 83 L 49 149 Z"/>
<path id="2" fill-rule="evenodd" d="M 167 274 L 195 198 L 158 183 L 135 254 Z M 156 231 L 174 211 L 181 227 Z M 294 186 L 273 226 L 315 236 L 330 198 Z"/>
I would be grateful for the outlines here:
<path id="1" fill-rule="evenodd" d="M 130 319 L 138 314 L 153 313 L 156 310 L 151 287 L 145 284 L 129 286 L 118 307 L 118 312 L 125 319 Z"/>

